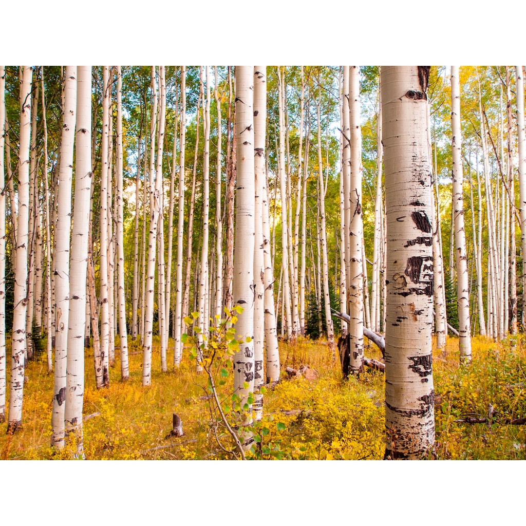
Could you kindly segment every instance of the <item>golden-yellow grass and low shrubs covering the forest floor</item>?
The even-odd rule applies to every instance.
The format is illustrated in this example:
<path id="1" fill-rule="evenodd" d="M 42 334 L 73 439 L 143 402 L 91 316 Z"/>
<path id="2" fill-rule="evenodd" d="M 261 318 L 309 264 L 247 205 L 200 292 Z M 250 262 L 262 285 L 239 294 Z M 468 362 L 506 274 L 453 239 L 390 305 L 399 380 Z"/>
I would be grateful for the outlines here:
<path id="1" fill-rule="evenodd" d="M 117 339 L 118 340 L 118 339 Z M 157 342 L 158 345 L 158 342 Z M 171 340 L 170 340 L 171 345 Z M 505 423 L 526 417 L 526 343 L 524 336 L 496 343 L 473 339 L 473 361 L 459 366 L 458 339 L 449 338 L 446 355 L 433 355 L 437 459 L 526 459 L 526 425 Z M 172 347 L 168 347 L 171 349 Z M 369 358 L 380 358 L 374 345 Z M 119 352 L 110 368 L 110 385 L 97 390 L 93 353 L 86 349 L 84 395 L 84 452 L 87 459 L 231 459 L 231 438 L 207 395 L 208 377 L 195 372 L 185 348 L 178 368 L 160 370 L 155 347 L 151 386 L 141 385 L 142 352 L 129 343 L 130 379 L 120 381 Z M 168 357 L 170 351 L 168 351 Z M 8 352 L 9 357 L 9 352 Z M 385 451 L 383 373 L 366 370 L 359 379 L 343 379 L 338 356 L 329 355 L 326 342 L 300 339 L 280 343 L 281 381 L 267 388 L 264 417 L 254 424 L 251 459 L 382 459 Z M 171 359 L 168 358 L 168 362 Z M 7 400 L 9 358 L 7 359 Z M 285 367 L 308 365 L 310 379 L 288 379 Z M 217 369 L 220 378 L 221 367 Z M 231 366 L 228 367 L 231 371 Z M 72 448 L 49 446 L 53 375 L 47 372 L 45 352 L 29 361 L 23 402 L 23 428 L 7 435 L 0 424 L 0 459 L 67 459 Z M 231 374 L 218 387 L 229 404 Z M 462 423 L 465 417 L 487 417 L 490 423 Z M 8 407 L 8 401 L 6 404 Z M 6 411 L 7 412 L 7 411 Z M 173 414 L 184 435 L 170 437 Z M 86 419 L 86 416 L 90 416 Z"/>

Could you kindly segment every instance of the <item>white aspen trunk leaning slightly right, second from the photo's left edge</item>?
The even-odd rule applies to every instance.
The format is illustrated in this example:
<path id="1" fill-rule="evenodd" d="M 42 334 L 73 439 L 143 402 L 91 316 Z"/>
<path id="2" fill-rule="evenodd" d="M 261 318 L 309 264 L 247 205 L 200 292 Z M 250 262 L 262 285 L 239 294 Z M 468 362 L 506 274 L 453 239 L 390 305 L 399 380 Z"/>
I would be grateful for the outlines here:
<path id="1" fill-rule="evenodd" d="M 7 433 L 22 426 L 24 395 L 24 351 L 26 348 L 26 282 L 29 226 L 29 137 L 31 135 L 31 66 L 23 66 L 20 85 L 20 137 L 18 148 L 18 214 L 15 247 L 14 312 L 12 332 L 11 383 Z"/>

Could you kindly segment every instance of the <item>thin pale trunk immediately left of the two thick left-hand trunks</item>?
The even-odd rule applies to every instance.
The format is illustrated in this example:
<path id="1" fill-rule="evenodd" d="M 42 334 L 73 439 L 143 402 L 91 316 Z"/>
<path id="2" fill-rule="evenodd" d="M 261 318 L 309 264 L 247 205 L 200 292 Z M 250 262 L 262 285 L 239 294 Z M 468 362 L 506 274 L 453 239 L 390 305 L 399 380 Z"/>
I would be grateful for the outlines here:
<path id="1" fill-rule="evenodd" d="M 53 371 L 53 339 L 52 339 L 52 291 L 51 291 L 51 225 L 49 215 L 49 188 L 47 180 L 48 158 L 47 158 L 47 120 L 46 100 L 44 89 L 44 68 L 42 68 L 42 121 L 44 127 L 44 168 L 42 176 L 44 179 L 44 199 L 46 207 L 46 334 L 47 334 L 47 372 Z"/>

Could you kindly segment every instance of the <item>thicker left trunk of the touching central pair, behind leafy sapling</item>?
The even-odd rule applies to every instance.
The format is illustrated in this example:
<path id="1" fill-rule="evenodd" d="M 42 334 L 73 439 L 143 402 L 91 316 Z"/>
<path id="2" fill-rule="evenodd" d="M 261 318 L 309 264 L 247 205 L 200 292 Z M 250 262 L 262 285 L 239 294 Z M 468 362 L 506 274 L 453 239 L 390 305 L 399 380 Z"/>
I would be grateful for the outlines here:
<path id="1" fill-rule="evenodd" d="M 254 392 L 254 88 L 252 66 L 236 66 L 236 229 L 234 243 L 234 305 L 241 307 L 236 323 L 240 335 L 234 355 L 234 392 L 241 407 Z M 249 404 L 250 406 L 250 404 Z M 241 418 L 250 422 L 250 408 Z"/>

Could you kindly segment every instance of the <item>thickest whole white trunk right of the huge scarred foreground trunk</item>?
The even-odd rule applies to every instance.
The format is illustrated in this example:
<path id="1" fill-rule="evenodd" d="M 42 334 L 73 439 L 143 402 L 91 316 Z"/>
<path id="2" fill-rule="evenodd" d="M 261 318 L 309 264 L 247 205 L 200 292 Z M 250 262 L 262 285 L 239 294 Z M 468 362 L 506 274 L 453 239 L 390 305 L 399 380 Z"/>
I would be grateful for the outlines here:
<path id="1" fill-rule="evenodd" d="M 466 256 L 466 232 L 464 231 L 462 136 L 460 129 L 460 84 L 458 66 L 451 66 L 451 131 L 460 361 L 469 363 L 471 361 L 471 323 L 469 318 L 469 274 L 468 259 Z"/>

